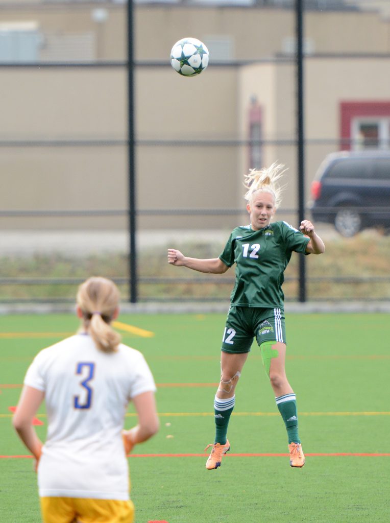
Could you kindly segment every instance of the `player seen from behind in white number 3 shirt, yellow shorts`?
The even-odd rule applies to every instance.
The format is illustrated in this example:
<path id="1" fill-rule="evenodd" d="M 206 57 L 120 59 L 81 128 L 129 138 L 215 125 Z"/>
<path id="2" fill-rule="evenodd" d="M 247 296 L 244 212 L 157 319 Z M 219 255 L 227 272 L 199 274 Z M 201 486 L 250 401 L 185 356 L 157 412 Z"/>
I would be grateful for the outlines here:
<path id="1" fill-rule="evenodd" d="M 37 460 L 44 523 L 132 523 L 126 453 L 159 427 L 155 383 L 143 355 L 120 343 L 110 326 L 119 313 L 111 280 L 87 279 L 78 289 L 74 336 L 45 348 L 31 363 L 13 418 Z M 45 444 L 32 426 L 45 400 Z M 138 424 L 123 430 L 132 401 Z"/>

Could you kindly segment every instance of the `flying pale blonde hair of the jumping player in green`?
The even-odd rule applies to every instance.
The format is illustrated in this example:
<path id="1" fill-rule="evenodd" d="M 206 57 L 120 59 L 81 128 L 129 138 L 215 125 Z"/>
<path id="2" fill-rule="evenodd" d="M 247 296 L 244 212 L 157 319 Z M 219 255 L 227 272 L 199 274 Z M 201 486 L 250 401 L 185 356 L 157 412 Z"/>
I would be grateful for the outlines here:
<path id="1" fill-rule="evenodd" d="M 244 179 L 244 185 L 248 189 L 244 198 L 250 203 L 257 191 L 270 192 L 275 200 L 275 208 L 278 208 L 282 201 L 281 194 L 285 187 L 280 185 L 279 180 L 286 170 L 284 165 L 280 165 L 277 162 L 262 169 L 249 169 L 249 174 L 245 175 Z"/>

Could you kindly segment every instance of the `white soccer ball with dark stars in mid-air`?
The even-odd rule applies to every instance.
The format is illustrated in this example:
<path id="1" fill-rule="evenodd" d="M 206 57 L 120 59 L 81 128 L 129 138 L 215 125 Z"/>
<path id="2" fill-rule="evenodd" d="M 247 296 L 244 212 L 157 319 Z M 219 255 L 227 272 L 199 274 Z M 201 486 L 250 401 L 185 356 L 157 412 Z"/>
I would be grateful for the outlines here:
<path id="1" fill-rule="evenodd" d="M 183 76 L 196 76 L 209 65 L 209 50 L 196 38 L 183 38 L 172 48 L 170 64 Z"/>

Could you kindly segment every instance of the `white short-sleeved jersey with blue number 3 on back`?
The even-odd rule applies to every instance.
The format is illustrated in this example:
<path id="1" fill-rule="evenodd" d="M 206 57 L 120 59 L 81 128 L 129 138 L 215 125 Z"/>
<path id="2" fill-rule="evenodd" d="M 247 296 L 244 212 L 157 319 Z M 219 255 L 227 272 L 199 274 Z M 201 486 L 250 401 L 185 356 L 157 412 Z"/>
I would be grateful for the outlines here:
<path id="1" fill-rule="evenodd" d="M 76 334 L 41 350 L 24 383 L 45 393 L 39 495 L 129 499 L 124 415 L 134 396 L 156 390 L 143 355 L 122 344 L 106 354 Z"/>

